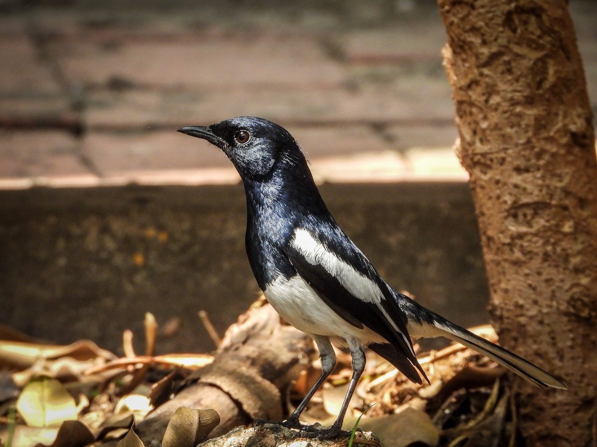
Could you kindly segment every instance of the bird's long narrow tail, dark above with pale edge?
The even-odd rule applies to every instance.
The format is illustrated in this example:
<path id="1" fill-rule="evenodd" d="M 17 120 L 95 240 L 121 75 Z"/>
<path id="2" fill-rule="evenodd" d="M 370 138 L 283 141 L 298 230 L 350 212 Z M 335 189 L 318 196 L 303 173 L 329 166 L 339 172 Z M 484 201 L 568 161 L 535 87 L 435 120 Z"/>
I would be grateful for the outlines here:
<path id="1" fill-rule="evenodd" d="M 413 302 L 413 304 L 416 303 Z M 497 344 L 488 342 L 478 335 L 467 331 L 466 329 L 454 324 L 451 321 L 448 321 L 447 319 L 429 311 L 428 309 L 424 309 L 424 311 L 426 311 L 427 315 L 430 317 L 427 319 L 427 321 L 432 322 L 431 324 L 436 330 L 433 331 L 434 335 L 437 334 L 436 336 L 444 336 L 448 339 L 464 344 L 464 346 L 470 347 L 470 349 L 489 357 L 490 359 L 498 362 L 498 364 L 504 365 L 504 367 L 540 388 L 546 389 L 547 387 L 553 387 L 564 390 L 566 389 L 566 386 L 561 381 L 553 377 L 551 374 L 541 370 L 541 368 L 536 367 L 531 362 L 519 357 L 515 353 L 512 353 L 509 350 L 498 346 Z"/>

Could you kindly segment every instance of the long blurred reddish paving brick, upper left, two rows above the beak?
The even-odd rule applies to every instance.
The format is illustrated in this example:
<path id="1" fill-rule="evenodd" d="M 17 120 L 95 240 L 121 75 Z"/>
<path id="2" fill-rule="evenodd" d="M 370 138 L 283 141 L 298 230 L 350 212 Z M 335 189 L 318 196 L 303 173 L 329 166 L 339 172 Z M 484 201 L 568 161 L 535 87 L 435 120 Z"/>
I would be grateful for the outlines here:
<path id="1" fill-rule="evenodd" d="M 226 89 L 230 86 L 331 86 L 340 65 L 317 42 L 290 35 L 155 41 L 56 40 L 51 54 L 73 85 Z"/>

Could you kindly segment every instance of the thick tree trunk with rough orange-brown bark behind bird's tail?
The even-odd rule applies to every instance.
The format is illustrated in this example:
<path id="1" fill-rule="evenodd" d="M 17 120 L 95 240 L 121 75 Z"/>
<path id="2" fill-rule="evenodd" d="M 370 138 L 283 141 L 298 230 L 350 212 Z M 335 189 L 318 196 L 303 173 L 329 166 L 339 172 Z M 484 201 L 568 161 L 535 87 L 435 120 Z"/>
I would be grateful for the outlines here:
<path id="1" fill-rule="evenodd" d="M 438 2 L 493 323 L 503 346 L 568 386 L 516 381 L 522 435 L 584 446 L 595 430 L 597 163 L 567 4 Z"/>

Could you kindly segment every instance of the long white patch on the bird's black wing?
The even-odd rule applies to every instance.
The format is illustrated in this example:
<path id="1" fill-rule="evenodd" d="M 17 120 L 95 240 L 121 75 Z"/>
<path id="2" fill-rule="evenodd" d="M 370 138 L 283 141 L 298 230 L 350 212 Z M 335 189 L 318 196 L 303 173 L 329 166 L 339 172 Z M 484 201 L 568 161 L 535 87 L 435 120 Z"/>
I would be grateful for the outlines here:
<path id="1" fill-rule="evenodd" d="M 297 228 L 294 231 L 292 244 L 307 262 L 311 265 L 321 265 L 354 297 L 367 303 L 379 303 L 383 299 L 383 293 L 376 283 L 356 271 L 336 254 L 331 253 L 324 244 L 313 237 L 310 231 Z"/>

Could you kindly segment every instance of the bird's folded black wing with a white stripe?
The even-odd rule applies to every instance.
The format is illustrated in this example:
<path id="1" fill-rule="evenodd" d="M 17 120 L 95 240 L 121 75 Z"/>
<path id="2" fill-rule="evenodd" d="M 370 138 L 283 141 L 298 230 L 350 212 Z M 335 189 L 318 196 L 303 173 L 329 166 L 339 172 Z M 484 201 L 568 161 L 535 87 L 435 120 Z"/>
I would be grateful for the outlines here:
<path id="1" fill-rule="evenodd" d="M 407 321 L 393 305 L 391 291 L 371 263 L 340 228 L 318 231 L 297 228 L 285 254 L 297 273 L 334 312 L 353 326 L 380 334 L 407 362 L 392 362 L 410 380 L 421 383 L 418 364 L 408 336 Z M 394 358 L 396 355 L 394 355 Z"/>

